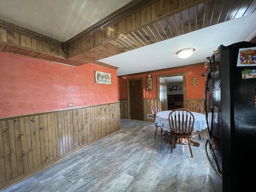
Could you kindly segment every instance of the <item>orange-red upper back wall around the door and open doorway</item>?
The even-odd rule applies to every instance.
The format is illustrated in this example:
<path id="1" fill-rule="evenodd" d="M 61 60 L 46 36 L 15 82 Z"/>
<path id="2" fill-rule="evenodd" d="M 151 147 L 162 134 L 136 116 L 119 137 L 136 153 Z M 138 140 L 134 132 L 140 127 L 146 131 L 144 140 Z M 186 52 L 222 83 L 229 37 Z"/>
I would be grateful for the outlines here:
<path id="1" fill-rule="evenodd" d="M 193 66 L 193 67 L 152 72 L 151 74 L 152 74 L 153 90 L 147 90 L 147 87 L 146 87 L 147 74 L 119 77 L 118 78 L 119 79 L 119 92 L 120 92 L 119 99 L 127 99 L 126 80 L 128 80 L 128 79 L 143 78 L 144 99 L 154 99 L 157 97 L 156 76 L 164 75 L 164 74 L 179 73 L 179 72 L 186 72 L 186 98 L 187 99 L 203 99 L 204 98 L 205 76 L 202 76 L 201 74 L 206 72 L 206 69 L 204 68 L 203 64 L 199 65 L 199 66 Z M 191 85 L 192 77 L 198 78 L 197 86 Z"/>

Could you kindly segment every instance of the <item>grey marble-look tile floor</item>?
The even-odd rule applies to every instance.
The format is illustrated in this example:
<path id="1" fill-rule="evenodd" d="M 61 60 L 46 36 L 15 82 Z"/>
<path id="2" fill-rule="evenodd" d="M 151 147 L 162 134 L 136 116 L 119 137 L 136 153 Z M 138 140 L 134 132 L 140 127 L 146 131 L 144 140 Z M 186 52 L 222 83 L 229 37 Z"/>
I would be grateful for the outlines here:
<path id="1" fill-rule="evenodd" d="M 154 122 L 120 119 L 121 129 L 1 192 L 214 192 L 200 146 L 170 153 Z"/>

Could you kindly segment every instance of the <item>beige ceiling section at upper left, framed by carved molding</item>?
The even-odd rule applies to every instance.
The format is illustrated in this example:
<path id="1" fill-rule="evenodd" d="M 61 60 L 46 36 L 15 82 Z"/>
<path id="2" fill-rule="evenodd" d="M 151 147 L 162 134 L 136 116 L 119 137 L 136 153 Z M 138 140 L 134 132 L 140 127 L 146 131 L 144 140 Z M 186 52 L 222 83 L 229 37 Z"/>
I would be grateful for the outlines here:
<path id="1" fill-rule="evenodd" d="M 130 1 L 0 0 L 0 19 L 66 42 Z"/>

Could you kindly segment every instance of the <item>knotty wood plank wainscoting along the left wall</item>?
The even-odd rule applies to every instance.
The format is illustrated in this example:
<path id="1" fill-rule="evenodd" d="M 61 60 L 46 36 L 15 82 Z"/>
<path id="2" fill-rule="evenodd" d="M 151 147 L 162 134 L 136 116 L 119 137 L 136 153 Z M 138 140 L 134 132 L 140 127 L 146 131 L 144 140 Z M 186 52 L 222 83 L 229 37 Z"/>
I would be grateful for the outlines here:
<path id="1" fill-rule="evenodd" d="M 119 102 L 0 119 L 0 190 L 118 129 Z"/>

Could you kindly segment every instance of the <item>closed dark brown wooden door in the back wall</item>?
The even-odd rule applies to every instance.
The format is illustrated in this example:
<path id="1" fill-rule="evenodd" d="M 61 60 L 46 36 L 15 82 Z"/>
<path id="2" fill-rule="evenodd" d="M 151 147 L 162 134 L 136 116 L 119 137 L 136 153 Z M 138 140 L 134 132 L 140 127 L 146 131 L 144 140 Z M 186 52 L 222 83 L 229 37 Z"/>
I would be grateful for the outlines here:
<path id="1" fill-rule="evenodd" d="M 142 79 L 128 80 L 130 119 L 144 120 Z"/>

